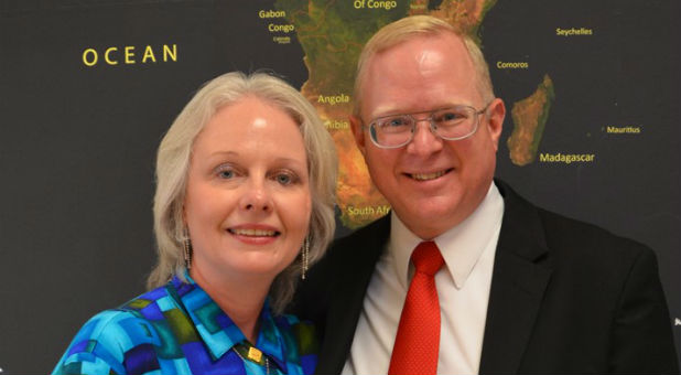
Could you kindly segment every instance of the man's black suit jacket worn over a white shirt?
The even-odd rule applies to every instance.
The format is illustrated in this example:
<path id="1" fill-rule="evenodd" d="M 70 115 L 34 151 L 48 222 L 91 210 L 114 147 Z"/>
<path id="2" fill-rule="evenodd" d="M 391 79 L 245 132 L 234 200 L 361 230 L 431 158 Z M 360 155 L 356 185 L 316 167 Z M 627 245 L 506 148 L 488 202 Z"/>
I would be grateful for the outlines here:
<path id="1" fill-rule="evenodd" d="M 496 184 L 505 212 L 480 373 L 678 373 L 652 250 Z M 318 374 L 343 369 L 389 233 L 383 217 L 335 242 L 299 289 L 294 312 L 322 339 Z"/>

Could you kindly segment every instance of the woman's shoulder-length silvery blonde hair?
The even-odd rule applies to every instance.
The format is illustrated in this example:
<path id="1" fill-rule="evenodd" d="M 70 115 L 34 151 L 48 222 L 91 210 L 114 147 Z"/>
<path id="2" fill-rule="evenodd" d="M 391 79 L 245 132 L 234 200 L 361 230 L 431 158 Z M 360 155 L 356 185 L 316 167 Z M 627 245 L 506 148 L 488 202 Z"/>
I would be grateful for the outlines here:
<path id="1" fill-rule="evenodd" d="M 159 147 L 153 205 L 158 264 L 149 276 L 148 288 L 164 285 L 173 275 L 185 280 L 183 208 L 194 141 L 220 108 L 247 96 L 257 97 L 289 114 L 303 136 L 312 195 L 310 265 L 324 255 L 333 239 L 337 161 L 334 142 L 316 110 L 296 89 L 269 74 L 227 73 L 206 83 L 196 93 Z M 270 288 L 271 306 L 277 313 L 283 311 L 293 297 L 301 261 L 301 257 L 296 257 L 277 276 Z"/>

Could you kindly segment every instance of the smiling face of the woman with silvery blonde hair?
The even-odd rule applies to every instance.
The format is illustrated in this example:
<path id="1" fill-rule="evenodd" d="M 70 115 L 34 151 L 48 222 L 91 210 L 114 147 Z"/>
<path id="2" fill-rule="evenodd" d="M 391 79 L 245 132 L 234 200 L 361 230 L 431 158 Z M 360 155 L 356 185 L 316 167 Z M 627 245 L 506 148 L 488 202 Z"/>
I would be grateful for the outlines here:
<path id="1" fill-rule="evenodd" d="M 298 255 L 311 214 L 303 137 L 252 96 L 219 109 L 197 136 L 184 218 L 202 277 L 273 279 Z"/>

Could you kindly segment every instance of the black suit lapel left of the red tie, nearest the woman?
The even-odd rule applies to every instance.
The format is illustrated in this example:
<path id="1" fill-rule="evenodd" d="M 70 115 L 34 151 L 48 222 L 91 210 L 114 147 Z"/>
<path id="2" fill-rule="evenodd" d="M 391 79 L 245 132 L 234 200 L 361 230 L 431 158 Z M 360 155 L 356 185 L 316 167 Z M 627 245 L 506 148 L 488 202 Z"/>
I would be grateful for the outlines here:
<path id="1" fill-rule="evenodd" d="M 344 256 L 337 267 L 343 272 L 334 280 L 332 306 L 315 373 L 339 374 L 349 354 L 355 329 L 364 306 L 376 262 L 383 253 L 390 234 L 390 215 L 369 224 L 353 235 L 352 243 L 342 242 Z"/>

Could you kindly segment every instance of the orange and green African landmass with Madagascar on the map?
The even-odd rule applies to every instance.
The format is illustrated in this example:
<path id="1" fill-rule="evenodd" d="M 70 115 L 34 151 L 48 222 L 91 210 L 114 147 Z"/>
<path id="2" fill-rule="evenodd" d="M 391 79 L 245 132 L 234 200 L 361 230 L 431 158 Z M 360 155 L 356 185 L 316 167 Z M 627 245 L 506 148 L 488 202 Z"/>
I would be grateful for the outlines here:
<path id="1" fill-rule="evenodd" d="M 380 26 L 408 14 L 439 17 L 482 42 L 480 24 L 495 3 L 496 0 L 445 0 L 436 6 L 424 0 L 277 1 L 279 14 L 285 14 L 295 28 L 305 53 L 310 77 L 301 90 L 315 105 L 336 142 L 340 167 L 338 208 L 346 227 L 366 225 L 389 211 L 370 182 L 347 120 L 353 108 L 355 66 L 364 43 Z M 536 159 L 553 97 L 553 84 L 547 75 L 536 93 L 514 104 L 516 128 L 508 138 L 514 163 L 525 165 Z"/>

